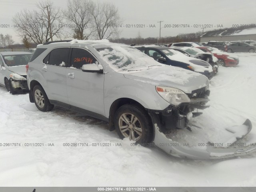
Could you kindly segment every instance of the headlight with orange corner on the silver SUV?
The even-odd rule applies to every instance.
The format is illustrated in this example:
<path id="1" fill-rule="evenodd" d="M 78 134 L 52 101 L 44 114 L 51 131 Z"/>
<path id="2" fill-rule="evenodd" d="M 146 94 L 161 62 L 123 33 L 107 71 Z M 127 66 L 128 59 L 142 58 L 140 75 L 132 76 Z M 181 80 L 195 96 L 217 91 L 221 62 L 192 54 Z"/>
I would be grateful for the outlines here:
<path id="1" fill-rule="evenodd" d="M 156 86 L 156 91 L 164 100 L 174 106 L 178 106 L 184 102 L 190 102 L 190 98 L 182 90 L 176 88 Z"/>

